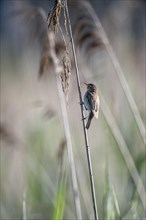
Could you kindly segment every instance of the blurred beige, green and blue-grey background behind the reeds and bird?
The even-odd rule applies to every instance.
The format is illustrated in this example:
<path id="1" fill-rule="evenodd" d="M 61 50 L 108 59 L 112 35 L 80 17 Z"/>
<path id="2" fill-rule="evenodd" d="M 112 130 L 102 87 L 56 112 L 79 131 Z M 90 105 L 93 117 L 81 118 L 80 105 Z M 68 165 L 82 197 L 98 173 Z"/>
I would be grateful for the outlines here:
<path id="1" fill-rule="evenodd" d="M 78 2 L 74 1 L 76 5 Z M 145 124 L 145 1 L 90 3 L 107 33 Z M 48 74 L 38 77 L 40 40 L 37 33 L 30 40 L 32 17 L 27 17 L 25 23 L 23 17 L 12 13 L 30 6 L 42 7 L 48 13 L 53 1 L 4 0 L 0 5 L 1 219 L 75 219 L 55 74 L 50 65 Z M 69 10 L 74 26 L 81 11 L 72 6 Z M 81 83 L 92 82 L 99 88 L 101 103 L 104 97 L 146 190 L 146 148 L 111 60 L 102 47 L 87 49 L 85 41 L 77 50 Z M 81 89 L 84 94 L 83 84 Z M 89 130 L 99 218 L 144 219 L 144 208 L 126 165 L 128 157 L 123 158 L 103 107 Z M 93 219 L 74 66 L 68 108 L 82 216 Z"/>

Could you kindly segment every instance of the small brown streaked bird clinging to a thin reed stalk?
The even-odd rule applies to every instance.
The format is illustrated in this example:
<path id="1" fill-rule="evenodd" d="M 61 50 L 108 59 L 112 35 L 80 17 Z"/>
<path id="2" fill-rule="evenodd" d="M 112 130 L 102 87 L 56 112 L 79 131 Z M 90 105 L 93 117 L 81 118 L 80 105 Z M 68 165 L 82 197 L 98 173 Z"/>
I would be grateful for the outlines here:
<path id="1" fill-rule="evenodd" d="M 84 106 L 85 109 L 89 111 L 88 121 L 86 124 L 86 128 L 90 127 L 90 123 L 93 117 L 98 118 L 99 113 L 99 96 L 97 93 L 97 88 L 94 84 L 87 84 L 87 91 L 84 95 Z"/>

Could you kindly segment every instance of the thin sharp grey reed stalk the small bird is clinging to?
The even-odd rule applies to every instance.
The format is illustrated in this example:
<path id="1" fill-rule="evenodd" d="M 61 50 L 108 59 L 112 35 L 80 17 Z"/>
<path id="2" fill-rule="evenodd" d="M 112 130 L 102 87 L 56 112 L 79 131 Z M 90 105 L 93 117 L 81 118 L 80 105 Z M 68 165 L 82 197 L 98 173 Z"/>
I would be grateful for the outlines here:
<path id="1" fill-rule="evenodd" d="M 80 100 L 80 106 L 81 106 L 81 115 L 82 115 L 84 139 L 85 139 L 86 153 L 87 153 L 87 162 L 88 162 L 88 169 L 89 169 L 89 176 L 90 176 L 90 186 L 91 186 L 91 193 L 92 193 L 94 217 L 95 217 L 96 220 L 98 220 L 97 203 L 96 203 L 96 195 L 95 195 L 95 187 L 94 187 L 94 178 L 93 178 L 91 155 L 90 155 L 90 145 L 89 145 L 87 130 L 86 130 L 86 127 L 85 127 L 85 120 L 84 120 L 85 115 L 84 115 L 83 100 L 82 100 L 82 94 L 81 94 L 81 88 L 80 88 L 80 77 L 79 77 L 79 70 L 78 70 L 78 65 L 77 65 L 76 52 L 75 52 L 75 46 L 74 46 L 74 40 L 73 40 L 72 27 L 71 27 L 71 22 L 70 22 L 70 16 L 69 16 L 69 11 L 68 11 L 67 0 L 65 0 L 65 10 L 66 10 L 66 17 L 67 17 L 67 20 L 68 20 L 69 35 L 70 35 L 70 38 L 71 38 L 71 45 L 72 45 L 73 58 L 74 58 L 74 64 L 75 64 L 75 72 L 76 72 L 76 79 L 77 79 L 77 87 L 78 87 L 79 100 Z"/>

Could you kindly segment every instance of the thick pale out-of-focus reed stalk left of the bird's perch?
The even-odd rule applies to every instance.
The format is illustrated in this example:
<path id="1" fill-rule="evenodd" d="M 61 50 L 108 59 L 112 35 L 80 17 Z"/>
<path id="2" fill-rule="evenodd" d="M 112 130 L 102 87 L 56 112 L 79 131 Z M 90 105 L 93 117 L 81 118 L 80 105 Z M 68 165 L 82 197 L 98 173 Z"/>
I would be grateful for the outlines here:
<path id="1" fill-rule="evenodd" d="M 52 58 L 52 61 L 54 64 L 56 81 L 57 81 L 58 96 L 59 96 L 62 118 L 63 118 L 63 123 L 64 123 L 68 159 L 69 159 L 69 164 L 70 164 L 70 169 L 71 169 L 72 187 L 73 187 L 73 194 L 74 194 L 76 216 L 77 216 L 77 219 L 82 219 L 77 177 L 76 177 L 76 171 L 75 171 L 75 163 L 74 163 L 74 157 L 73 157 L 73 151 L 72 151 L 71 134 L 70 134 L 70 128 L 69 128 L 69 122 L 68 122 L 67 109 L 66 109 L 66 102 L 65 102 L 64 93 L 62 91 L 61 82 L 60 82 L 60 72 L 61 72 L 62 68 L 60 66 L 59 60 L 58 60 L 56 53 L 55 53 L 55 50 L 54 50 L 55 45 L 54 45 L 53 33 L 49 32 L 48 37 L 49 37 L 49 42 L 50 42 L 50 57 Z"/>

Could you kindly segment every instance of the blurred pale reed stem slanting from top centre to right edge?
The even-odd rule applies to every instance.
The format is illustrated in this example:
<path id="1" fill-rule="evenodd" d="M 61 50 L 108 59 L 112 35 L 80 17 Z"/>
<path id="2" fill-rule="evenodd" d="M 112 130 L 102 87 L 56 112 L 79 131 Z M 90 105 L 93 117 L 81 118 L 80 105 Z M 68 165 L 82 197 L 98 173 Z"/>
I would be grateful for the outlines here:
<path id="1" fill-rule="evenodd" d="M 102 39 L 102 42 L 107 50 L 107 53 L 109 54 L 109 57 L 112 61 L 112 64 L 114 66 L 115 72 L 118 76 L 119 82 L 122 86 L 122 89 L 124 91 L 124 94 L 128 100 L 129 106 L 131 108 L 131 112 L 134 116 L 135 122 L 137 124 L 138 130 L 140 132 L 141 138 L 143 140 L 143 143 L 146 147 L 146 135 L 145 135 L 145 127 L 144 127 L 144 123 L 140 117 L 140 113 L 138 110 L 138 107 L 135 103 L 135 100 L 132 96 L 131 90 L 129 88 L 128 82 L 125 78 L 125 75 L 123 73 L 123 70 L 120 66 L 120 63 L 114 53 L 114 50 L 108 40 L 108 37 L 105 33 L 105 30 L 97 16 L 97 14 L 94 12 L 92 6 L 87 2 L 87 1 L 82 1 L 81 5 L 83 6 L 82 9 L 84 9 L 85 11 L 87 11 L 89 13 L 89 15 L 91 16 L 91 18 L 93 19 L 93 22 L 97 28 L 97 33 L 99 33 L 100 38 Z"/>

